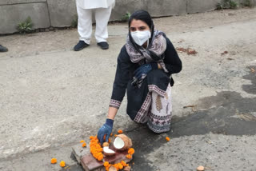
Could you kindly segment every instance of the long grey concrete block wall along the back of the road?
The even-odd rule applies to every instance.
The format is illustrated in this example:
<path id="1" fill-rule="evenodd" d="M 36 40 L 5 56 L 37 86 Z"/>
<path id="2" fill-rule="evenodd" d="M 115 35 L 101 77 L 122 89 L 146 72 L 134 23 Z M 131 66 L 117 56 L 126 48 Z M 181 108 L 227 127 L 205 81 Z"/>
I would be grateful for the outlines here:
<path id="1" fill-rule="evenodd" d="M 215 10 L 222 0 L 116 0 L 110 21 L 117 21 L 126 12 L 148 10 L 153 17 L 201 13 Z M 245 0 L 234 0 L 242 2 Z M 256 0 L 251 0 L 256 5 Z M 75 0 L 1 0 L 0 34 L 16 32 L 18 23 L 28 16 L 34 29 L 49 26 L 70 26 L 76 15 Z"/>

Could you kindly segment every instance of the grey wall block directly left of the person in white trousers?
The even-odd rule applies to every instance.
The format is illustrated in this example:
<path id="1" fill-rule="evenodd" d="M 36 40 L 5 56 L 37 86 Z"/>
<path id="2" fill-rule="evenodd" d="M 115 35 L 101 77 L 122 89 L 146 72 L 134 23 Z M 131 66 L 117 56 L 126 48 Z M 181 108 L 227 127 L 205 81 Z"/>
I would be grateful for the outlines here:
<path id="1" fill-rule="evenodd" d="M 77 15 L 75 0 L 48 0 L 51 26 L 71 26 Z"/>

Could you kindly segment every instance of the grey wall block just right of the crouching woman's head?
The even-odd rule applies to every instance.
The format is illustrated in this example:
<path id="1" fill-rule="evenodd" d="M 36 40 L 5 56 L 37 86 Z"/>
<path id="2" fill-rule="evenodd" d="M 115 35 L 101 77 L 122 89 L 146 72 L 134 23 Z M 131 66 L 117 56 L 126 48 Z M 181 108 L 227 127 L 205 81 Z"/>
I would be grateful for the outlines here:
<path id="1" fill-rule="evenodd" d="M 186 0 L 148 0 L 146 6 L 152 17 L 186 14 Z"/>

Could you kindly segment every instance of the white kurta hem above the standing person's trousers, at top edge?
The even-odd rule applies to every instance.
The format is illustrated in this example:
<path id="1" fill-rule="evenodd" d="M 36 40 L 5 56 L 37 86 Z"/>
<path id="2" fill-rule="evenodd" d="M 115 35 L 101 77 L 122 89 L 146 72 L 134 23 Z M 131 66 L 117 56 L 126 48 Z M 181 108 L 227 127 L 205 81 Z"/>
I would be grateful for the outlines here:
<path id="1" fill-rule="evenodd" d="M 82 9 L 96 9 L 114 7 L 115 0 L 76 0 Z"/>

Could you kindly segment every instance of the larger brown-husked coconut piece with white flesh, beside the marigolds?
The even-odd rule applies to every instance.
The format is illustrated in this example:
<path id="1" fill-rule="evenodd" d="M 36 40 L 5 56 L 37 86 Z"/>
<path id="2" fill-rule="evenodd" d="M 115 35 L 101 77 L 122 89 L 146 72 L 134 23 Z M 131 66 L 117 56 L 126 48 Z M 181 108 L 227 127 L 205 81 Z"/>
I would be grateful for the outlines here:
<path id="1" fill-rule="evenodd" d="M 113 142 L 114 148 L 118 150 L 130 149 L 133 145 L 130 137 L 127 137 L 125 134 L 119 134 Z"/>

